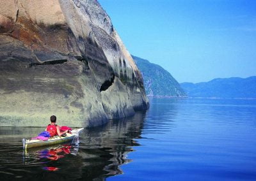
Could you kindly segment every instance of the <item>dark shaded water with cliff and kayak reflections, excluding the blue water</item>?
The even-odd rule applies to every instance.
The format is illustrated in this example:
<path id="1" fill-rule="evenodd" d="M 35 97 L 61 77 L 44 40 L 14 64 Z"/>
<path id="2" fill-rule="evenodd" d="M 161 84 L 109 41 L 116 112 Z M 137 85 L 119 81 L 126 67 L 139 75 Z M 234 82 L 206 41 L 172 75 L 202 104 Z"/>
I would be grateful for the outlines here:
<path id="1" fill-rule="evenodd" d="M 119 166 L 131 162 L 127 154 L 139 146 L 134 138 L 141 136 L 144 117 L 145 113 L 136 113 L 134 117 L 84 129 L 79 147 L 65 143 L 33 148 L 26 154 L 22 153 L 20 140 L 35 136 L 42 128 L 0 127 L 0 175 L 6 180 L 105 180 L 121 174 Z"/>

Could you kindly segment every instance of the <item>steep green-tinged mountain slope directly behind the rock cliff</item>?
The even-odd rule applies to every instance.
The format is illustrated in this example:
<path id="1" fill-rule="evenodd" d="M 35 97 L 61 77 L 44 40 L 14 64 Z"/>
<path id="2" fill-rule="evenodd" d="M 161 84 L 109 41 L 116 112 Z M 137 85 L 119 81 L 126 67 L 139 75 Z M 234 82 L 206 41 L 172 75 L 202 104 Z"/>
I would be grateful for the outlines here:
<path id="1" fill-rule="evenodd" d="M 143 76 L 147 96 L 186 96 L 179 82 L 161 66 L 133 55 L 132 58 Z"/>

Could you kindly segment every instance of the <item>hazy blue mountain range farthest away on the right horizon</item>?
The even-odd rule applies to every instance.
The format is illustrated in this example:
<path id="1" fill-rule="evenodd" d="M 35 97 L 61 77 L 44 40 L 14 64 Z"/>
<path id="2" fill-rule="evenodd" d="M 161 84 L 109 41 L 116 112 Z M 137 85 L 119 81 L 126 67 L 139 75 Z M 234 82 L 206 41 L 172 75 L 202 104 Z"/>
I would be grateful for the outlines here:
<path id="1" fill-rule="evenodd" d="M 256 76 L 216 78 L 209 82 L 180 83 L 193 98 L 256 98 Z"/>

